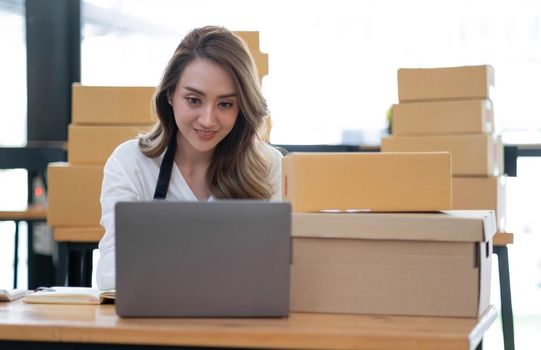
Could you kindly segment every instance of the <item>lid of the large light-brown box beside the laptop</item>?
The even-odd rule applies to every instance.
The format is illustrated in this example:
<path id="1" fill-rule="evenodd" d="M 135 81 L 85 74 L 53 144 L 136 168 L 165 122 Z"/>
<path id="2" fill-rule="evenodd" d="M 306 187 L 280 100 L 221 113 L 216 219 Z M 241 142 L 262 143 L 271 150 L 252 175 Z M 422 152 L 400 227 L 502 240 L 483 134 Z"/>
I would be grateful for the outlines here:
<path id="1" fill-rule="evenodd" d="M 293 237 L 485 242 L 496 232 L 491 210 L 292 215 Z"/>

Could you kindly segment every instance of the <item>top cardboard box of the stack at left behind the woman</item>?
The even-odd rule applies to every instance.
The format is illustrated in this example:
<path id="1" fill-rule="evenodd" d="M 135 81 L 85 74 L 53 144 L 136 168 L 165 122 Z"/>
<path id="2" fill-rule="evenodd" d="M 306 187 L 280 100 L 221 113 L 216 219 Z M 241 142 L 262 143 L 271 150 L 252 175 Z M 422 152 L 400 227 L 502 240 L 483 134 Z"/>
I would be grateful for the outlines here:
<path id="1" fill-rule="evenodd" d="M 76 124 L 151 124 L 154 87 L 72 85 Z"/>

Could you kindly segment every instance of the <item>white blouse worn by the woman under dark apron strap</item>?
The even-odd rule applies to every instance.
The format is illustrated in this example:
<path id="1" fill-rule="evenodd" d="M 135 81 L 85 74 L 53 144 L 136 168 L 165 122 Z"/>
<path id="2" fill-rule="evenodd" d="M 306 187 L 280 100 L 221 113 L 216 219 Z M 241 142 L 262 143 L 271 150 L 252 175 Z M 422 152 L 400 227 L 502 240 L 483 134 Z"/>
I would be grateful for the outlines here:
<path id="1" fill-rule="evenodd" d="M 270 145 L 261 145 L 270 163 L 268 181 L 272 186 L 271 200 L 281 200 L 282 154 Z M 96 273 L 100 289 L 115 288 L 115 203 L 153 200 L 162 159 L 163 154 L 157 158 L 145 156 L 139 150 L 138 140 L 133 139 L 118 146 L 105 164 L 100 199 L 100 223 L 105 235 L 99 243 L 100 259 Z M 177 166 L 173 167 L 166 200 L 197 201 Z"/>

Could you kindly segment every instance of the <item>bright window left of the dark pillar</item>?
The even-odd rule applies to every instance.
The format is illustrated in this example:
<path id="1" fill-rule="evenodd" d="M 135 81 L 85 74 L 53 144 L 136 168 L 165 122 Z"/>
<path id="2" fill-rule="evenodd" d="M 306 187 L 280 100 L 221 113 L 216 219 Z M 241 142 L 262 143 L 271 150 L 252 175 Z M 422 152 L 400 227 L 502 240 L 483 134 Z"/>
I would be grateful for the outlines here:
<path id="1" fill-rule="evenodd" d="M 26 144 L 26 44 L 23 0 L 0 0 L 0 147 Z M 0 208 L 21 209 L 27 201 L 24 169 L 0 169 Z M 26 225 L 21 224 L 19 287 L 26 286 Z M 0 221 L 0 288 L 13 281 L 15 225 Z"/>

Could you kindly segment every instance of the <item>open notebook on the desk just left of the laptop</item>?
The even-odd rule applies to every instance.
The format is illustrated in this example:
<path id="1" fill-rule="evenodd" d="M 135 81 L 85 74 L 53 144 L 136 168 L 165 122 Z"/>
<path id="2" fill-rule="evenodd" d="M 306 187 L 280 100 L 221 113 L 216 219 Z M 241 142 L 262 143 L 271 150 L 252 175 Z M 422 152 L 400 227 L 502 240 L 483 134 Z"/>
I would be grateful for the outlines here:
<path id="1" fill-rule="evenodd" d="M 40 290 L 24 297 L 33 304 L 102 304 L 115 299 L 115 291 L 103 291 L 87 287 L 51 287 L 52 291 Z"/>

